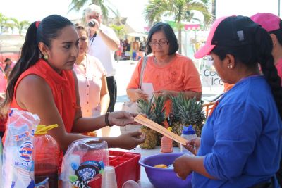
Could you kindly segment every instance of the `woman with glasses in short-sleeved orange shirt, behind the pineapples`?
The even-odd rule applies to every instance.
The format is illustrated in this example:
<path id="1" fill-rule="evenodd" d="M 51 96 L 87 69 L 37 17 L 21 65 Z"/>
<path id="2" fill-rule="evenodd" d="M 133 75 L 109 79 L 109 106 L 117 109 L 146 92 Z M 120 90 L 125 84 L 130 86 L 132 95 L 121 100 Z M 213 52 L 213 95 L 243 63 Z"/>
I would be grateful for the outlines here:
<path id="1" fill-rule="evenodd" d="M 173 29 L 167 23 L 157 23 L 149 31 L 146 42 L 148 56 L 142 83 L 152 83 L 155 96 L 177 95 L 183 92 L 188 98 L 196 96 L 199 101 L 202 96 L 200 75 L 192 60 L 176 53 L 178 40 Z M 138 89 L 140 70 L 143 58 L 137 64 L 127 87 L 130 101 L 148 99 L 149 95 L 143 89 Z M 166 113 L 169 113 L 169 103 L 166 103 Z"/>

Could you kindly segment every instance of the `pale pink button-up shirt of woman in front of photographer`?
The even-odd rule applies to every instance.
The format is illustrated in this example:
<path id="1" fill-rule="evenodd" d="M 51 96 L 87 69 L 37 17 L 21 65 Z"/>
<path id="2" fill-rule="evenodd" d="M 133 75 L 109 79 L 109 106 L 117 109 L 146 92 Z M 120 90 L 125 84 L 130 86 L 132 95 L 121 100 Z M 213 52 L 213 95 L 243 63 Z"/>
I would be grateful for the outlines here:
<path id="1" fill-rule="evenodd" d="M 106 70 L 102 63 L 94 56 L 86 55 L 80 65 L 74 65 L 73 70 L 78 77 L 80 106 L 83 117 L 100 115 L 100 93 L 102 77 Z"/>

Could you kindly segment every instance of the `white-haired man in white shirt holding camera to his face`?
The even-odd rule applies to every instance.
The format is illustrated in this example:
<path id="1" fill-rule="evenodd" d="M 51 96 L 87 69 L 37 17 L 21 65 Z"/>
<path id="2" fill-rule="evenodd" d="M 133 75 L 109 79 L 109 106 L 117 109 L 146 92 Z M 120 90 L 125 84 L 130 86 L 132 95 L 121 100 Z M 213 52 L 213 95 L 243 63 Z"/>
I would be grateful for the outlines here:
<path id="1" fill-rule="evenodd" d="M 85 8 L 85 21 L 90 28 L 90 42 L 88 54 L 95 56 L 106 69 L 106 82 L 110 94 L 108 111 L 114 111 L 116 103 L 116 80 L 114 79 L 114 51 L 118 49 L 119 39 L 114 30 L 102 24 L 101 7 L 90 5 Z"/>

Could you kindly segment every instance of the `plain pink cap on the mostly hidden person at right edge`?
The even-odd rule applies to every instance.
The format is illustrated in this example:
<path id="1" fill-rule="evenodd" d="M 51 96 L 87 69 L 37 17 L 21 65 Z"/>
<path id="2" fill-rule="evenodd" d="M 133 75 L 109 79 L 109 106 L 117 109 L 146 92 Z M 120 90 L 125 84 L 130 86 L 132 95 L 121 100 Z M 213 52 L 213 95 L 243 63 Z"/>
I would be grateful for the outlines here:
<path id="1" fill-rule="evenodd" d="M 281 19 L 272 13 L 256 13 L 250 17 L 255 23 L 261 25 L 267 32 L 280 29 Z"/>

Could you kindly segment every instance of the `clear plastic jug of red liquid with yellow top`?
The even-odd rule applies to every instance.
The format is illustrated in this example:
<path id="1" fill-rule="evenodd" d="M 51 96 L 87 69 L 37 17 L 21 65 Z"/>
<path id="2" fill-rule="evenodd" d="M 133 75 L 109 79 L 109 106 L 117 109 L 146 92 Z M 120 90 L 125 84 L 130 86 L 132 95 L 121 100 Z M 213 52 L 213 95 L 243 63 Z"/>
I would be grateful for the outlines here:
<path id="1" fill-rule="evenodd" d="M 49 187 L 58 187 L 59 145 L 56 140 L 47 134 L 58 125 L 38 125 L 35 132 L 35 183 L 49 178 Z"/>

